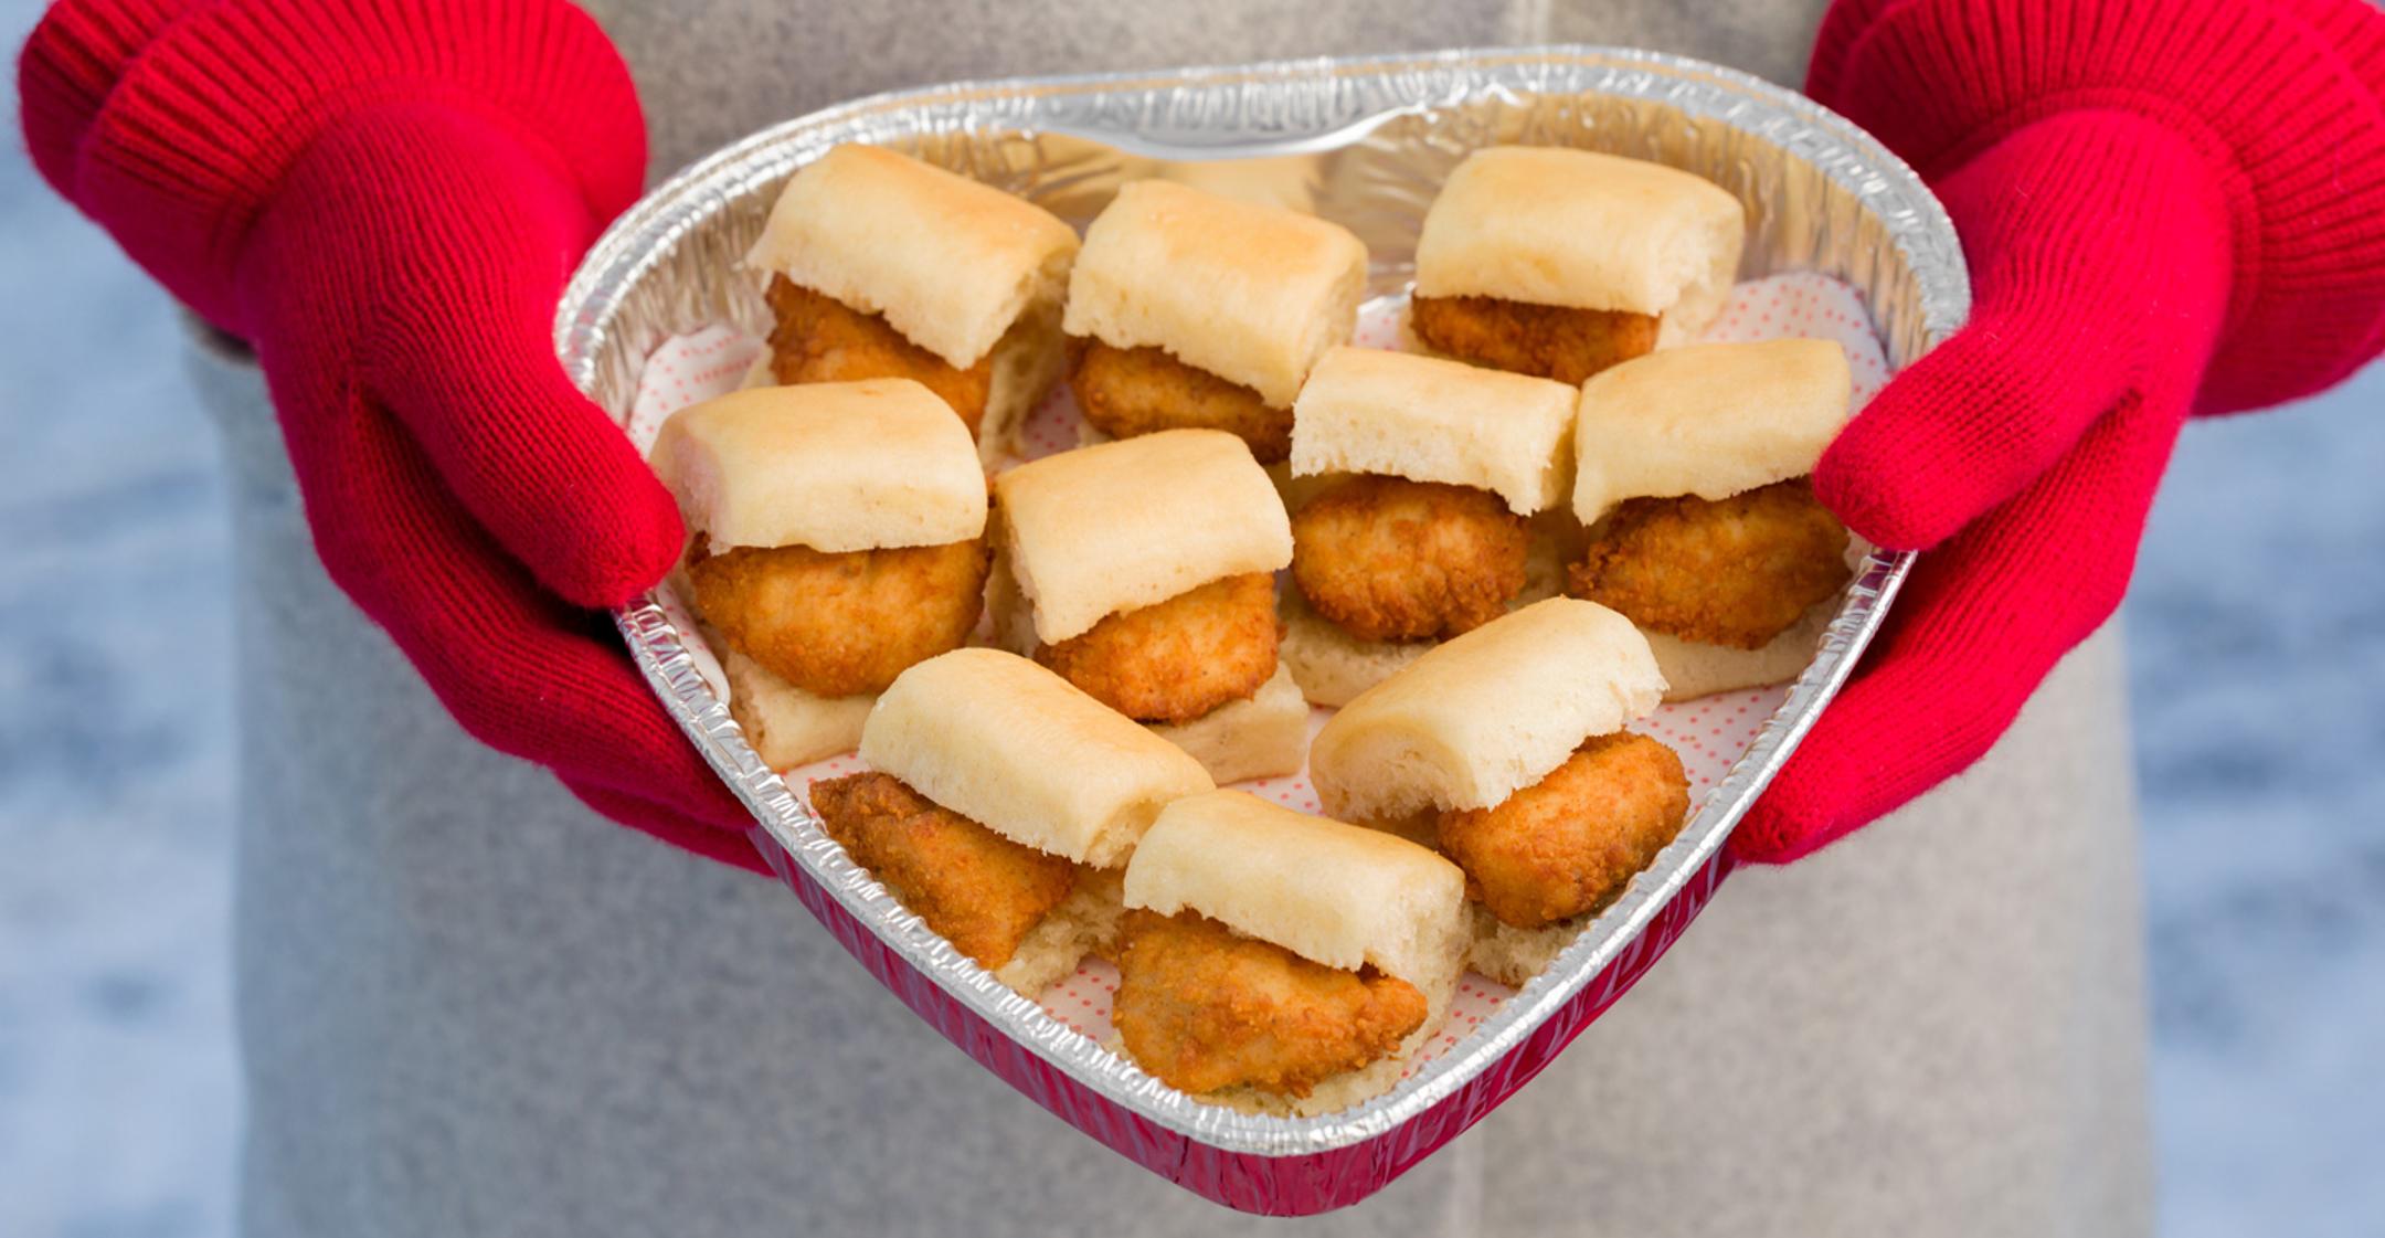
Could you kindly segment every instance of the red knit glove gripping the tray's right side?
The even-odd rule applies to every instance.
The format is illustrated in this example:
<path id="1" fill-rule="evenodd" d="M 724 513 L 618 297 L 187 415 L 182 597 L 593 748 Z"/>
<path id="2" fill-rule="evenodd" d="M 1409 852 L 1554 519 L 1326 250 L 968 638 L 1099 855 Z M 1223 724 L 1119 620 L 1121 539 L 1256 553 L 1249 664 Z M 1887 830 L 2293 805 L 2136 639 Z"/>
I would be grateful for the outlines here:
<path id="1" fill-rule="evenodd" d="M 1934 546 L 1739 825 L 1789 861 L 1977 761 L 2120 603 L 2189 413 L 2385 343 L 2385 17 L 2368 0 L 1841 0 L 1813 98 L 1932 181 L 1970 324 L 1848 425 L 1815 491 Z"/>

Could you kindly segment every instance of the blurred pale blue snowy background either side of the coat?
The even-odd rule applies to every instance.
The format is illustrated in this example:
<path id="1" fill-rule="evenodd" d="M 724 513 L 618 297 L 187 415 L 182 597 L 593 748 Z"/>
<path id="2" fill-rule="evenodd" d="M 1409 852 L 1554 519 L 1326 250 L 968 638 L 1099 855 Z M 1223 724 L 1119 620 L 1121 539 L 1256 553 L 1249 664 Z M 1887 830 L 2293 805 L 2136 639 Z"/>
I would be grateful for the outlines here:
<path id="1" fill-rule="evenodd" d="M 0 5 L 0 48 L 36 10 Z M 215 441 L 172 305 L 19 150 L 0 239 L 0 1236 L 219 1236 Z M 2123 615 L 2173 1238 L 2385 1228 L 2380 465 L 2385 367 L 2189 427 Z"/>

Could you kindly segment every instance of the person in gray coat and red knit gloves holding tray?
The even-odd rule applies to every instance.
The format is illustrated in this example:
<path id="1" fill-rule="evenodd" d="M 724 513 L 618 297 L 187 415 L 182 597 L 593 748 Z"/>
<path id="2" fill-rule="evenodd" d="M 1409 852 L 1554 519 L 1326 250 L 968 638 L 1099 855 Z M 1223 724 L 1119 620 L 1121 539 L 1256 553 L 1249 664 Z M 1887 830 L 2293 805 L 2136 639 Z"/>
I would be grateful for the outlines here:
<path id="1" fill-rule="evenodd" d="M 754 873 L 594 613 L 682 525 L 553 360 L 563 277 L 651 174 L 880 88 L 1545 41 L 1796 81 L 1817 17 L 1805 88 L 1972 262 L 1972 324 L 1813 472 L 1929 553 L 1739 825 L 1758 868 L 1474 1133 L 1281 1228 L 2149 1231 L 2104 620 L 2189 415 L 2385 343 L 2371 5 L 589 7 L 64 0 L 21 57 L 33 162 L 212 327 L 246 1233 L 1278 1228 L 1064 1131 Z"/>

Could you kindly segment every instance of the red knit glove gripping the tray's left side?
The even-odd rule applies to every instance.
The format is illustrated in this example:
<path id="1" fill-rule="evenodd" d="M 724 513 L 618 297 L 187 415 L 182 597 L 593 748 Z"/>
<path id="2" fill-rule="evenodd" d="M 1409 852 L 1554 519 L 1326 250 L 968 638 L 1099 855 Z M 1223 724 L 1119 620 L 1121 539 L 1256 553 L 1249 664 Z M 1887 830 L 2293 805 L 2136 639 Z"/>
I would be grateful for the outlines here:
<path id="1" fill-rule="evenodd" d="M 255 346 L 324 568 L 463 728 L 758 868 L 749 813 L 591 611 L 682 539 L 549 343 L 646 162 L 596 24 L 558 0 L 69 0 L 19 91 L 50 184 Z"/>

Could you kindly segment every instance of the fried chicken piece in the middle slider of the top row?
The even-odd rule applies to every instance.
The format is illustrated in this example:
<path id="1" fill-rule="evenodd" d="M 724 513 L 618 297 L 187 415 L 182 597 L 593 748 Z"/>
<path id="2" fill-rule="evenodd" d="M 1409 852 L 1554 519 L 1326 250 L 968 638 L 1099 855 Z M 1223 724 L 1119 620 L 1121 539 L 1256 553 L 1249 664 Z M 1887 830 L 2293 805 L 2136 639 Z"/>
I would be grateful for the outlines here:
<path id="1" fill-rule="evenodd" d="M 1224 429 L 1250 444 L 1262 465 L 1293 453 L 1293 410 L 1257 391 L 1185 365 L 1161 348 L 1068 341 L 1068 391 L 1095 429 L 1133 439 L 1154 429 Z"/>

